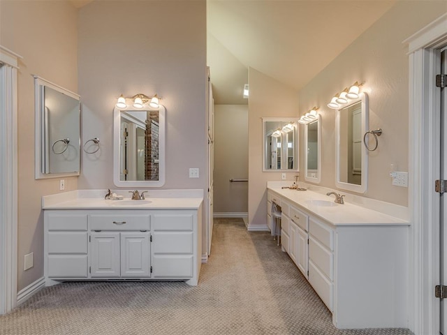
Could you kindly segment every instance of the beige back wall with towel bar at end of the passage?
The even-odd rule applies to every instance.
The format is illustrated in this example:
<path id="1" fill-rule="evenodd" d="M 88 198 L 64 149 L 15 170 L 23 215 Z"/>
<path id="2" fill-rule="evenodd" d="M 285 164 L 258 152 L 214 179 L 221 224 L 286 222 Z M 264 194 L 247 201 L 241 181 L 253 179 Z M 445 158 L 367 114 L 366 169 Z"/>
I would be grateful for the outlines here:
<path id="1" fill-rule="evenodd" d="M 248 105 L 214 105 L 214 214 L 248 212 Z"/>

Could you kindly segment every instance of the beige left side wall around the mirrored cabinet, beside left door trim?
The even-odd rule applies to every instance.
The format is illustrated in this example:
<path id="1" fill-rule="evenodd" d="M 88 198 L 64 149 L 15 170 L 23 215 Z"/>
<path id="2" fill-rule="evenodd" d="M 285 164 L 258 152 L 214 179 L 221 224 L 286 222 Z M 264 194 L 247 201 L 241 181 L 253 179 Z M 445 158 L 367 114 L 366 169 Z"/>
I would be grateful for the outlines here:
<path id="1" fill-rule="evenodd" d="M 18 71 L 18 290 L 43 276 L 41 197 L 59 193 L 59 179 L 34 180 L 34 78 L 78 91 L 77 10 L 66 1 L 0 1 L 0 44 L 20 54 Z M 64 178 L 65 191 L 78 177 Z M 23 271 L 24 255 L 34 267 Z"/>

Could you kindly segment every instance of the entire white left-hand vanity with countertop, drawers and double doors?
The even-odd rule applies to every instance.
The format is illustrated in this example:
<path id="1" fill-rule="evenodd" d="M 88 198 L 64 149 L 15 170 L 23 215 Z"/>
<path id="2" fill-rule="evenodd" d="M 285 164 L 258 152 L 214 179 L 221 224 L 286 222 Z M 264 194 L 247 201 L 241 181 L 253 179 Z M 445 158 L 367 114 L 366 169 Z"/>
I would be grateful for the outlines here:
<path id="1" fill-rule="evenodd" d="M 43 197 L 46 285 L 129 280 L 197 285 L 203 197 L 201 190 L 190 191 L 146 200 L 104 200 L 104 191 Z"/>

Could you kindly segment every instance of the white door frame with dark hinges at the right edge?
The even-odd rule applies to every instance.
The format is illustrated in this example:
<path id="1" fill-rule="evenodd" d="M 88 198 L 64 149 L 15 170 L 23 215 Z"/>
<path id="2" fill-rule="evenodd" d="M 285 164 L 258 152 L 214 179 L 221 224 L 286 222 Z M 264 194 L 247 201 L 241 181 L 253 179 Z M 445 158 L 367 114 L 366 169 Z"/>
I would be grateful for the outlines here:
<path id="1" fill-rule="evenodd" d="M 412 306 L 409 327 L 417 334 L 439 334 L 439 179 L 440 92 L 434 75 L 440 70 L 439 49 L 447 45 L 447 14 L 403 43 L 409 45 L 409 250 Z"/>

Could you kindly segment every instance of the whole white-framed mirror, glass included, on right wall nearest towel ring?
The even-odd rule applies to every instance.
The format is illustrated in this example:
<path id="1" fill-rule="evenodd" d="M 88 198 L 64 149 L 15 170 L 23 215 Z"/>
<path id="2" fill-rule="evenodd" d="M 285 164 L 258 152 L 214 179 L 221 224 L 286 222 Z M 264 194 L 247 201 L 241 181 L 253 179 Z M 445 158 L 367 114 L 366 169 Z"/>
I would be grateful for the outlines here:
<path id="1" fill-rule="evenodd" d="M 337 112 L 337 154 L 335 184 L 338 188 L 365 193 L 368 177 L 368 154 L 362 144 L 362 134 L 368 128 L 367 95 Z"/>

